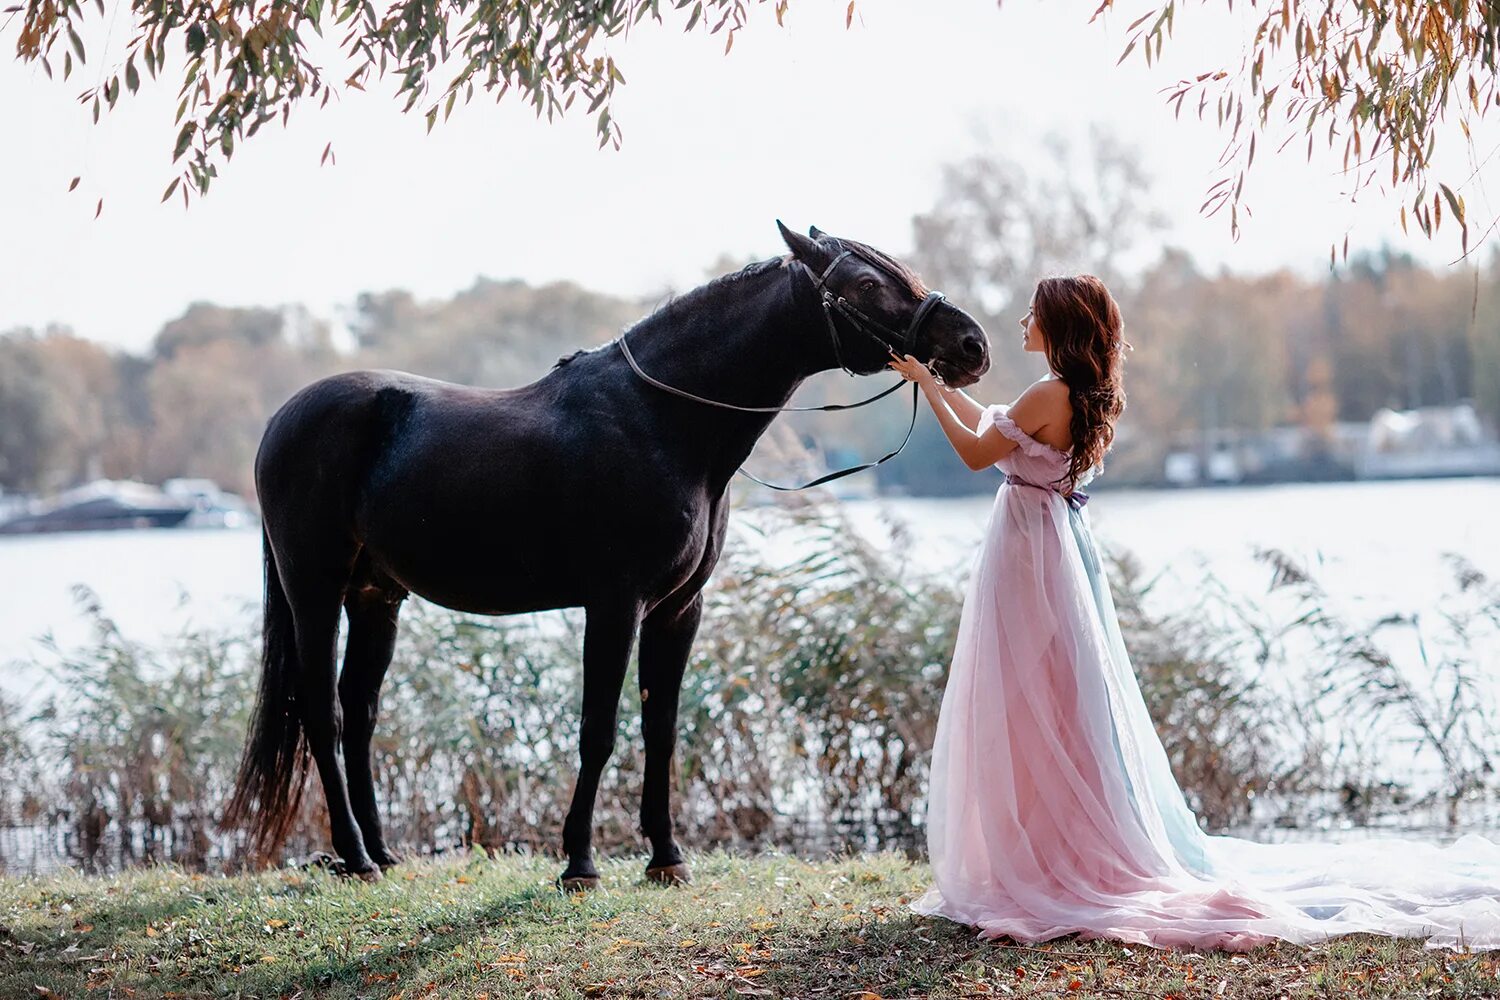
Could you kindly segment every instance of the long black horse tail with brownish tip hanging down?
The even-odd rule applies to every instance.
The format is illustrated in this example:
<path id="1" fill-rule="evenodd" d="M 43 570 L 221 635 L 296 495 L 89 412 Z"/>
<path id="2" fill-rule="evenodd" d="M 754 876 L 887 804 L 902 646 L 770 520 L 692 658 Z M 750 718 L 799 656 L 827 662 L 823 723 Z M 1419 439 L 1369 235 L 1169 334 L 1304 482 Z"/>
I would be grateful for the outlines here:
<path id="1" fill-rule="evenodd" d="M 280 849 L 297 819 L 309 747 L 297 705 L 298 661 L 291 603 L 264 528 L 261 546 L 266 556 L 261 685 L 234 795 L 224 810 L 220 826 L 244 828 L 246 844 L 255 855 L 267 858 Z"/>

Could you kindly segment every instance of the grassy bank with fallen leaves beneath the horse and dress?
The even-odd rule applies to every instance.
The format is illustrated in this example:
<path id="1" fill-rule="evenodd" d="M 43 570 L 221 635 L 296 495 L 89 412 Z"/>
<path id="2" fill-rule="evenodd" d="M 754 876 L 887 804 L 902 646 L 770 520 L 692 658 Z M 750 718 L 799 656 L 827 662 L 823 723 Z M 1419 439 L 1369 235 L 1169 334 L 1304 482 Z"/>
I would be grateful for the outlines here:
<path id="1" fill-rule="evenodd" d="M 926 865 L 690 858 L 692 888 L 543 858 L 320 871 L 0 879 L 0 997 L 1494 997 L 1496 955 L 1347 937 L 1250 957 L 978 942 L 909 913 Z"/>

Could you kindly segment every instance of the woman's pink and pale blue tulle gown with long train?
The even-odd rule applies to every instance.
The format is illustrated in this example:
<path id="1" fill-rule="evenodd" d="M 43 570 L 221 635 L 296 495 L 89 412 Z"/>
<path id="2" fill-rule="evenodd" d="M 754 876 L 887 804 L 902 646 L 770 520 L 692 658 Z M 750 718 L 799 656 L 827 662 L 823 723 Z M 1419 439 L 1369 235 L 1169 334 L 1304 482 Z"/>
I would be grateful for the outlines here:
<path id="1" fill-rule="evenodd" d="M 1260 844 L 1209 837 L 1172 775 L 1089 532 L 1017 441 L 975 556 L 932 757 L 933 888 L 918 913 L 981 937 L 1078 933 L 1245 951 L 1368 931 L 1500 948 L 1500 844 Z"/>

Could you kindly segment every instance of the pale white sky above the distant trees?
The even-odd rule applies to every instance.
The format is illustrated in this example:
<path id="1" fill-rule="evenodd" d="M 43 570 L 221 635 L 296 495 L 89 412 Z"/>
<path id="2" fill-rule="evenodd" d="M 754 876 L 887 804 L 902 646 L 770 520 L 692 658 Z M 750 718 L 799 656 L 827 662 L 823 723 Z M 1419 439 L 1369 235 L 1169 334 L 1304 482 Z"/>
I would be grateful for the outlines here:
<path id="1" fill-rule="evenodd" d="M 118 4 L 123 7 L 123 4 Z M 663 4 L 664 6 L 664 4 Z M 1143 192 L 1172 220 L 1167 238 L 1204 265 L 1324 273 L 1328 247 L 1392 240 L 1443 265 L 1456 237 L 1402 237 L 1376 190 L 1341 198 L 1338 159 L 1305 144 L 1263 144 L 1246 181 L 1254 217 L 1238 243 L 1197 214 L 1224 136 L 1160 88 L 1238 63 L 1244 10 L 1185 9 L 1162 63 L 1116 66 L 1125 27 L 1146 7 L 1072 0 L 796 0 L 777 27 L 756 9 L 723 54 L 722 36 L 636 30 L 609 52 L 627 76 L 615 102 L 624 145 L 598 150 L 586 114 L 538 121 L 483 96 L 424 135 L 382 93 L 348 91 L 288 129 L 246 141 L 208 196 L 159 204 L 176 84 L 122 97 L 90 124 L 82 76 L 50 81 L 0 61 L 0 330 L 62 322 L 144 348 L 194 300 L 304 303 L 333 315 L 366 289 L 448 295 L 477 276 L 570 279 L 620 294 L 682 289 L 722 253 L 782 250 L 774 220 L 910 247 L 910 217 L 932 207 L 939 168 L 981 148 L 1024 157 L 1048 129 L 1082 136 L 1107 123 L 1140 150 Z M 112 12 L 112 10 L 111 10 Z M 94 21 L 118 52 L 123 18 Z M 0 31 L 12 52 L 16 22 Z M 327 141 L 338 163 L 318 165 Z M 82 175 L 80 189 L 68 181 Z M 1479 192 L 1466 190 L 1480 214 Z M 94 204 L 105 199 L 94 219 Z"/>

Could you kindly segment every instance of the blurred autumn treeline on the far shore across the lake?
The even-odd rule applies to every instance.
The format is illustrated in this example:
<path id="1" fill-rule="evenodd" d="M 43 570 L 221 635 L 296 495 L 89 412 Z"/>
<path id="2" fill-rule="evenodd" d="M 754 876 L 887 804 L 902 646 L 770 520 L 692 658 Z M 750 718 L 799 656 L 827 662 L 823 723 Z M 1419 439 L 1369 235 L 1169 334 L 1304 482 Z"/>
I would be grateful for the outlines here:
<path id="1" fill-rule="evenodd" d="M 1366 421 L 1382 408 L 1464 400 L 1491 433 L 1500 423 L 1492 247 L 1443 270 L 1366 252 L 1320 279 L 1206 273 L 1160 234 L 1156 213 L 1137 193 L 1144 181 L 1134 154 L 1106 133 L 1084 147 L 1052 144 L 1052 168 L 981 156 L 950 165 L 934 207 L 912 220 L 909 247 L 890 247 L 986 324 L 994 367 L 970 390 L 981 400 L 1012 399 L 1041 375 L 1016 336 L 1035 279 L 1088 271 L 1113 289 L 1136 346 L 1110 483 L 1156 483 L 1168 451 L 1204 453 L 1224 432 L 1300 427 L 1316 442 L 1332 439 L 1336 423 Z M 1152 255 L 1144 268 L 1122 267 Z M 705 262 L 705 277 L 748 259 Z M 0 490 L 208 477 L 254 499 L 250 468 L 266 418 L 312 379 L 394 367 L 520 385 L 560 355 L 615 337 L 663 298 L 480 279 L 446 300 L 366 292 L 338 325 L 300 306 L 195 303 L 144 354 L 80 339 L 64 325 L 12 328 L 0 333 Z M 880 381 L 825 373 L 802 394 L 848 402 Z M 906 412 L 903 397 L 850 414 L 786 415 L 774 430 L 816 441 L 837 463 L 898 441 Z M 939 436 L 924 412 L 902 460 L 880 468 L 880 487 L 927 495 L 993 487 L 962 468 Z M 1308 475 L 1318 474 L 1310 466 Z"/>

